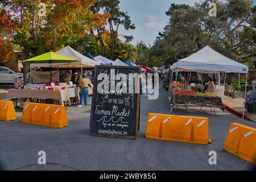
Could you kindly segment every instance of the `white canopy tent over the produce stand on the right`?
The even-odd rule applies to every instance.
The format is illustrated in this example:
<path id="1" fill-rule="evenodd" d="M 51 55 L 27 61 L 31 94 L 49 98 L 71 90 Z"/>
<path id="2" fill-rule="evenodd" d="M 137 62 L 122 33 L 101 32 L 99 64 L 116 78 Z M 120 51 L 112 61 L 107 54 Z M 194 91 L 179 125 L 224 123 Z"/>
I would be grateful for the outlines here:
<path id="1" fill-rule="evenodd" d="M 247 65 L 238 63 L 214 51 L 209 46 L 204 47 L 200 51 L 193 53 L 192 55 L 178 60 L 174 63 L 171 68 L 176 70 L 176 81 L 178 71 L 195 71 L 201 73 L 225 73 L 224 85 L 226 79 L 226 73 L 246 73 L 246 86 L 248 77 L 248 67 Z M 171 78 L 172 79 L 172 78 Z M 246 97 L 246 86 L 245 86 L 245 97 Z M 223 97 L 222 97 L 223 98 Z M 243 108 L 243 116 L 245 113 L 245 108 Z"/>

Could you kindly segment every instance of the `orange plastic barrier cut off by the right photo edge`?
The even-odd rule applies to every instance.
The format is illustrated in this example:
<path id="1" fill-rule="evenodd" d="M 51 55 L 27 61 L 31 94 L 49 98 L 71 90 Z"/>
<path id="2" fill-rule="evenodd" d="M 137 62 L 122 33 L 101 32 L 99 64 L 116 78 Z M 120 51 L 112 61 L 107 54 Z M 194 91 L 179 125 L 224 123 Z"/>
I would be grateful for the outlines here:
<path id="1" fill-rule="evenodd" d="M 224 150 L 256 165 L 256 129 L 231 123 Z"/>

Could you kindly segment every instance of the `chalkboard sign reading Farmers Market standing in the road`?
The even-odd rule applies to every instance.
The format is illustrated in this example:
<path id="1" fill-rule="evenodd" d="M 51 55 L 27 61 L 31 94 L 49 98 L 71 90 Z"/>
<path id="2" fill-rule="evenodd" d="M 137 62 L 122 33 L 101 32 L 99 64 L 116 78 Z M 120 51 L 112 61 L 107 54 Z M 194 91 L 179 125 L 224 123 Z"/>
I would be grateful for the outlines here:
<path id="1" fill-rule="evenodd" d="M 141 68 L 96 65 L 90 135 L 138 138 Z"/>

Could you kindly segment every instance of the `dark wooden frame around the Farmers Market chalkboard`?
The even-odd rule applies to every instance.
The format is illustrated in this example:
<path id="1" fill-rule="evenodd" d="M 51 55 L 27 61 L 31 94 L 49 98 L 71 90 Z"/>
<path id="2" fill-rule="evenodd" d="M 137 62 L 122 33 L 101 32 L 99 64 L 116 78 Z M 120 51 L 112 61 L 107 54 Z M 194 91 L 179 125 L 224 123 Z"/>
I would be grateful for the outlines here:
<path id="1" fill-rule="evenodd" d="M 92 137 L 109 137 L 109 138 L 124 138 L 124 139 L 138 139 L 138 130 L 139 130 L 139 117 L 140 117 L 140 105 L 141 105 L 141 77 L 139 77 L 139 86 L 138 93 L 134 93 L 137 96 L 136 103 L 136 117 L 135 117 L 135 135 L 134 136 L 122 136 L 122 135 L 111 135 L 111 134 L 96 134 L 92 133 L 93 119 L 94 119 L 94 99 L 97 93 L 97 70 L 99 68 L 109 68 L 109 69 L 134 69 L 138 70 L 139 76 L 141 75 L 141 67 L 129 67 L 129 66 L 115 66 L 115 65 L 96 65 L 94 69 L 94 86 L 93 86 L 93 96 L 92 96 L 92 107 L 90 112 L 90 128 L 89 132 Z M 97 83 L 97 84 L 96 84 Z M 97 101 L 96 101 L 97 102 Z"/>

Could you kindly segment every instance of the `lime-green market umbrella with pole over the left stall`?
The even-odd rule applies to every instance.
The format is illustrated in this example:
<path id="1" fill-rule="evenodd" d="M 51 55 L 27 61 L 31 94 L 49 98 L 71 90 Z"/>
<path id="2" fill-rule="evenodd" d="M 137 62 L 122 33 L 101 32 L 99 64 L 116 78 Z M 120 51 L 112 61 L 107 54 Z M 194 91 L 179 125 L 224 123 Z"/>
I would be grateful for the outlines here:
<path id="1" fill-rule="evenodd" d="M 32 57 L 30 59 L 22 61 L 22 63 L 27 64 L 40 64 L 40 63 L 49 63 L 50 64 L 50 82 L 52 81 L 52 63 L 73 63 L 78 60 L 72 59 L 67 56 L 60 55 L 55 52 L 47 52 L 39 56 Z"/>

